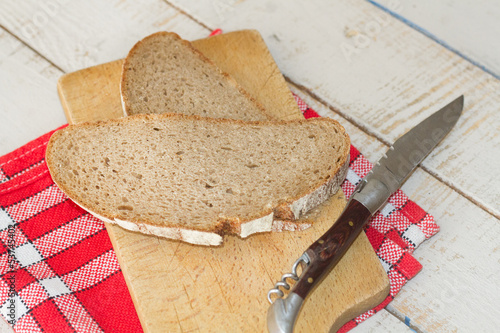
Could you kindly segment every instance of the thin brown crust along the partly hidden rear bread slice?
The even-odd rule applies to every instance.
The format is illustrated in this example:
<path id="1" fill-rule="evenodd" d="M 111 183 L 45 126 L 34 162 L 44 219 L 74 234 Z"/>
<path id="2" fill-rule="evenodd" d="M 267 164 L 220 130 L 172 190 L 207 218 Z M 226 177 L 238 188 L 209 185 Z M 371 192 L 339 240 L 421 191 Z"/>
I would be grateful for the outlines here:
<path id="1" fill-rule="evenodd" d="M 120 97 L 121 97 L 121 102 L 122 102 L 122 109 L 123 109 L 123 115 L 128 116 L 132 115 L 130 113 L 130 101 L 127 97 L 127 93 L 125 91 L 125 84 L 128 80 L 128 67 L 130 65 L 130 60 L 131 57 L 142 47 L 142 44 L 144 44 L 148 39 L 152 38 L 157 38 L 158 36 L 171 36 L 177 39 L 180 43 L 182 43 L 186 49 L 191 51 L 195 56 L 199 57 L 203 62 L 213 66 L 232 86 L 234 86 L 242 95 L 244 95 L 249 101 L 251 101 L 256 108 L 264 115 L 267 119 L 269 120 L 275 120 L 276 118 L 270 116 L 264 109 L 264 107 L 255 100 L 245 89 L 243 89 L 242 86 L 239 85 L 238 82 L 236 82 L 235 79 L 233 79 L 229 74 L 223 72 L 222 70 L 219 69 L 219 67 L 209 58 L 207 58 L 203 53 L 201 53 L 198 49 L 196 49 L 189 41 L 182 39 L 178 34 L 175 32 L 168 32 L 168 31 L 159 31 L 156 32 L 152 35 L 149 35 L 147 37 L 144 37 L 141 39 L 139 42 L 137 42 L 132 49 L 129 51 L 127 57 L 125 58 L 125 61 L 123 62 L 122 65 L 122 79 L 120 80 Z"/>

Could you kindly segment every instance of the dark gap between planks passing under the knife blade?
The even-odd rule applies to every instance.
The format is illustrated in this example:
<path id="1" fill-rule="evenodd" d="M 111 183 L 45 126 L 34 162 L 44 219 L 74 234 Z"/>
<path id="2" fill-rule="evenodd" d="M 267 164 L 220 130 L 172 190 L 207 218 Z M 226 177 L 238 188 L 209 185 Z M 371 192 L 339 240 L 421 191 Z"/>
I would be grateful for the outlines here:
<path id="1" fill-rule="evenodd" d="M 371 137 L 374 137 L 378 141 L 382 142 L 383 144 L 385 144 L 387 146 L 387 148 L 389 148 L 390 146 L 392 146 L 391 142 L 385 140 L 382 136 L 378 135 L 376 132 L 371 131 L 368 127 L 366 127 L 363 124 L 357 122 L 356 119 L 354 119 L 353 117 L 350 117 L 347 113 L 345 113 L 345 112 L 343 112 L 341 110 L 338 110 L 337 108 L 335 108 L 334 106 L 332 106 L 331 104 L 329 104 L 327 101 L 325 101 L 323 98 L 321 98 L 317 94 L 315 94 L 311 89 L 309 89 L 309 88 L 307 88 L 307 87 L 305 87 L 305 86 L 303 86 L 303 85 L 301 85 L 301 84 L 299 84 L 297 82 L 294 82 L 292 79 L 290 79 L 285 74 L 283 74 L 283 76 L 285 77 L 285 80 L 289 84 L 292 84 L 298 90 L 302 91 L 304 94 L 309 95 L 312 99 L 316 100 L 318 103 L 324 105 L 325 107 L 327 107 L 328 109 L 330 109 L 332 112 L 334 112 L 334 113 L 338 114 L 339 116 L 343 117 L 348 122 L 350 122 L 352 125 L 356 126 L 360 130 L 362 130 L 363 132 L 365 132 L 367 135 L 369 135 Z M 372 161 L 372 162 L 375 162 L 375 161 Z M 418 167 L 421 168 L 422 170 L 424 170 L 430 176 L 434 177 L 439 182 L 441 182 L 444 185 L 446 185 L 447 187 L 451 188 L 453 191 L 457 192 L 459 195 L 461 195 L 465 199 L 469 200 L 475 206 L 477 206 L 477 207 L 481 208 L 482 210 L 484 210 L 486 213 L 490 214 L 491 216 L 493 216 L 493 217 L 495 217 L 497 219 L 500 219 L 500 214 L 496 214 L 494 211 L 492 211 L 491 209 L 489 209 L 488 207 L 486 207 L 482 202 L 474 199 L 472 196 L 470 196 L 467 193 L 461 191 L 459 188 L 457 188 L 456 186 L 454 186 L 449 181 L 443 179 L 443 177 L 439 176 L 437 173 L 433 172 L 432 170 L 429 170 L 429 168 L 427 168 L 426 166 L 420 164 Z"/>

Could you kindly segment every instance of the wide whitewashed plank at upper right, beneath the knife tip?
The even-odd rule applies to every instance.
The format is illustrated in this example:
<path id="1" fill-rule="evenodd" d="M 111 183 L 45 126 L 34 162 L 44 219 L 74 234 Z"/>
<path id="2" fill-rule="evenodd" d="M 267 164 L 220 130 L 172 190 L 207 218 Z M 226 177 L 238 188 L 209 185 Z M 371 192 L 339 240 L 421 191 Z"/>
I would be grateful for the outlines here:
<path id="1" fill-rule="evenodd" d="M 500 81 L 363 1 L 224 4 L 173 0 L 203 24 L 258 29 L 282 72 L 385 143 L 460 94 L 465 109 L 424 162 L 435 175 L 500 217 Z M 487 189 L 485 191 L 485 189 Z"/>

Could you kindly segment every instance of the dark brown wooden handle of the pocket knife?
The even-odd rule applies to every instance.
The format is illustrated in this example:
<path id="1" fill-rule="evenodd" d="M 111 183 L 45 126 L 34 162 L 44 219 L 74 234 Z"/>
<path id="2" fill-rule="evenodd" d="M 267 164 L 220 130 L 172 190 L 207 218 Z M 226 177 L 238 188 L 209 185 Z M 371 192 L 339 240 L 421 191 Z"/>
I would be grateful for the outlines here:
<path id="1" fill-rule="evenodd" d="M 351 200 L 335 224 L 306 250 L 310 263 L 292 291 L 305 299 L 321 278 L 339 262 L 370 217 L 370 211 L 363 204 Z"/>

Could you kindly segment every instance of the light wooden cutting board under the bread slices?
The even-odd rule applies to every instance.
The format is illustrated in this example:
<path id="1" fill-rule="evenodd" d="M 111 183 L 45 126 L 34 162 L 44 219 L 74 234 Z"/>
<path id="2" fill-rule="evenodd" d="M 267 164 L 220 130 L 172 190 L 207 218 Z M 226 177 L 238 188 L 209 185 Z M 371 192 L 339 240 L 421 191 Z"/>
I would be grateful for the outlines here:
<path id="1" fill-rule="evenodd" d="M 301 118 L 293 96 L 256 31 L 193 42 L 274 116 Z M 122 60 L 64 75 L 59 95 L 70 124 L 123 115 Z M 323 205 L 313 227 L 300 232 L 225 237 L 220 247 L 195 246 L 106 225 L 146 332 L 263 332 L 266 295 L 345 205 L 342 191 Z M 297 332 L 338 329 L 379 304 L 389 281 L 366 235 L 304 303 Z"/>

